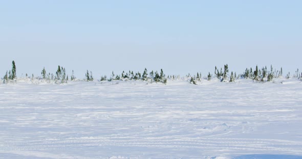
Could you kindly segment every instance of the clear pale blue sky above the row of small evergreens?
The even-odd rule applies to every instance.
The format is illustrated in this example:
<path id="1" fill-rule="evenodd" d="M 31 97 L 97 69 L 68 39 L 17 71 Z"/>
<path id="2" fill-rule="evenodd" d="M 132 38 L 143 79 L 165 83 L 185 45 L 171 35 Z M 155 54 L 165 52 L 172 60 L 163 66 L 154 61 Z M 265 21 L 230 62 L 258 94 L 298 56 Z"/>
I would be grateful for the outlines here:
<path id="1" fill-rule="evenodd" d="M 302 1 L 0 1 L 0 76 L 302 69 Z"/>

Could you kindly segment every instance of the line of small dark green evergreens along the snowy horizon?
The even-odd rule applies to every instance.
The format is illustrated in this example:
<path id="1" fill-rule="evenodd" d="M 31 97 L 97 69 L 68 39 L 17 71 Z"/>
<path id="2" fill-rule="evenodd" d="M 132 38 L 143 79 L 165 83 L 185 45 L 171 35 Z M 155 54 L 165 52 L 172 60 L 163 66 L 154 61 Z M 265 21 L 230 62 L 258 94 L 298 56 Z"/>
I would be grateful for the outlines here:
<path id="1" fill-rule="evenodd" d="M 283 77 L 283 70 L 282 67 L 280 70 L 273 69 L 272 65 L 270 66 L 270 69 L 267 68 L 267 66 L 258 68 L 246 68 L 245 71 L 239 75 L 236 74 L 236 72 L 231 71 L 229 74 L 228 64 L 224 65 L 224 68 L 218 69 L 215 66 L 214 74 L 211 74 L 210 72 L 207 74 L 207 76 L 202 77 L 202 74 L 197 72 L 196 75 L 186 75 L 185 79 L 191 83 L 191 84 L 197 84 L 198 81 L 207 80 L 211 81 L 213 78 L 217 78 L 220 82 L 235 82 L 235 80 L 238 79 L 251 79 L 255 82 L 270 82 L 273 80 L 273 78 L 279 78 Z M 290 77 L 290 72 L 288 72 L 285 76 L 286 78 Z M 179 79 L 179 75 L 165 75 L 163 72 L 163 69 L 158 71 L 150 71 L 148 72 L 145 68 L 143 73 L 140 72 L 133 72 L 123 71 L 121 74 L 115 74 L 112 71 L 112 74 L 110 77 L 107 77 L 106 75 L 100 76 L 99 81 L 145 81 L 148 83 L 163 83 L 166 84 L 167 81 L 174 81 Z M 297 69 L 295 73 L 292 75 L 292 78 L 298 78 L 299 80 L 302 80 L 302 73 L 299 72 Z M 62 66 L 58 66 L 57 71 L 53 73 L 47 73 L 45 67 L 41 70 L 41 76 L 34 77 L 34 74 L 32 74 L 30 77 L 26 73 L 26 79 L 30 79 L 32 81 L 34 80 L 41 80 L 45 81 L 47 83 L 55 83 L 55 84 L 63 84 L 67 83 L 68 81 L 78 81 L 74 75 L 74 71 L 72 70 L 72 74 L 69 77 L 69 75 L 66 73 L 66 69 Z M 1 79 L 4 84 L 7 83 L 15 83 L 17 82 L 17 75 L 16 75 L 16 64 L 14 61 L 12 61 L 12 69 L 6 71 L 4 77 Z M 83 81 L 94 81 L 94 77 L 92 74 L 92 71 L 88 71 L 85 73 L 85 78 L 82 79 Z"/>

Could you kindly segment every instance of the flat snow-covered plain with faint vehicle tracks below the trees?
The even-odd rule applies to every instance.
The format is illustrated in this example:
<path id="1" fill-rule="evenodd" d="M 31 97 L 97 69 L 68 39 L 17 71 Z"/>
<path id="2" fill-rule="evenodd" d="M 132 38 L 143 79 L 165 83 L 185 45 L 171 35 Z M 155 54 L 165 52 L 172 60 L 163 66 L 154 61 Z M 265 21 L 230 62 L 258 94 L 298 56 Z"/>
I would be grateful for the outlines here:
<path id="1" fill-rule="evenodd" d="M 0 158 L 302 158 L 301 90 L 295 80 L 0 85 Z"/>

